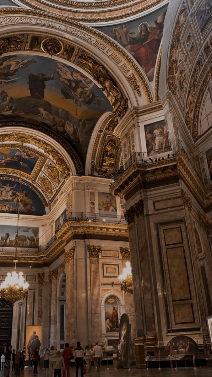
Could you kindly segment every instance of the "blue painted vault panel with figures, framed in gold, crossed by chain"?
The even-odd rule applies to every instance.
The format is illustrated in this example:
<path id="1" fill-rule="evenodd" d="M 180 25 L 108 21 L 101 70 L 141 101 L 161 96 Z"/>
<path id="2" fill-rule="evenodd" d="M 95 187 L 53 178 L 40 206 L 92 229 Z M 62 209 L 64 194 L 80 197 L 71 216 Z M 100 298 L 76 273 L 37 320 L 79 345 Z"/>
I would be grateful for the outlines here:
<path id="1" fill-rule="evenodd" d="M 35 153 L 23 150 L 22 153 L 22 170 L 30 173 L 34 169 L 38 156 Z M 6 166 L 11 169 L 20 169 L 21 150 L 16 148 L 2 147 L 0 148 L 0 167 Z"/>

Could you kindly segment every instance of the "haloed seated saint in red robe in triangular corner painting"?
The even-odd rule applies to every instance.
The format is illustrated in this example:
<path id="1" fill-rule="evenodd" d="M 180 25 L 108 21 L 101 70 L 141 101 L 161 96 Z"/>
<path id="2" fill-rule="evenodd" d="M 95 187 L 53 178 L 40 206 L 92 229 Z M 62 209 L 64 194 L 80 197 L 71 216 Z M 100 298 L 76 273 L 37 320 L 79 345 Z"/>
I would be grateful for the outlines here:
<path id="1" fill-rule="evenodd" d="M 129 51 L 137 55 L 140 66 L 148 74 L 155 66 L 160 47 L 159 37 L 154 32 L 150 32 L 145 23 L 141 25 L 140 33 L 136 37 L 131 37 L 130 44 Z"/>

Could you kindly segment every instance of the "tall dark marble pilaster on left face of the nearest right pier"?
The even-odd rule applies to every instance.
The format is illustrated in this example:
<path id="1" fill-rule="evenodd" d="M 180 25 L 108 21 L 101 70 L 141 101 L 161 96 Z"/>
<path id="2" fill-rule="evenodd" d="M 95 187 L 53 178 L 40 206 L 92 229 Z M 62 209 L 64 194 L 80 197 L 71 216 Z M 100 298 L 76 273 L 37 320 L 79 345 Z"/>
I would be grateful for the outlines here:
<path id="1" fill-rule="evenodd" d="M 151 258 L 147 250 L 143 208 L 143 200 L 140 199 L 124 214 L 128 222 L 137 337 L 155 336 L 156 332 Z"/>

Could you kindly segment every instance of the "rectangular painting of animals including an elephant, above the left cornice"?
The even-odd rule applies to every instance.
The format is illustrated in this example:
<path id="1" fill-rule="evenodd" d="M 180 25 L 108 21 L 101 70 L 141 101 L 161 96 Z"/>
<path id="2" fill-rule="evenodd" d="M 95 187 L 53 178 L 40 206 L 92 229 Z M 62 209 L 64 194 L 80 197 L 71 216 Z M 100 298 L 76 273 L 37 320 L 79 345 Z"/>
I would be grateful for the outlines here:
<path id="1" fill-rule="evenodd" d="M 17 226 L 0 225 L 0 245 L 3 247 L 15 247 Z M 18 227 L 18 247 L 38 247 L 39 228 Z"/>

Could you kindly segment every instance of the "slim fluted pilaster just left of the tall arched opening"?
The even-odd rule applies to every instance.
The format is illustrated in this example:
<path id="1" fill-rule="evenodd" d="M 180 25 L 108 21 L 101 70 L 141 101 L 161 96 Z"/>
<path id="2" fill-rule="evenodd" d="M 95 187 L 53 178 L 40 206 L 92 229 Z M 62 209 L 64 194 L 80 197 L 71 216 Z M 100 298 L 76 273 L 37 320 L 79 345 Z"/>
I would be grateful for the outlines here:
<path id="1" fill-rule="evenodd" d="M 50 346 L 57 346 L 57 270 L 49 271 L 50 296 L 49 317 L 50 317 Z"/>

